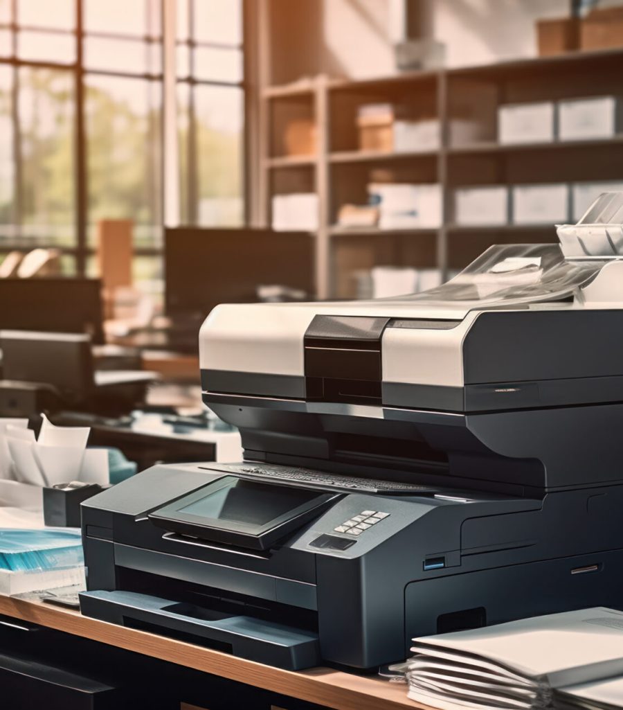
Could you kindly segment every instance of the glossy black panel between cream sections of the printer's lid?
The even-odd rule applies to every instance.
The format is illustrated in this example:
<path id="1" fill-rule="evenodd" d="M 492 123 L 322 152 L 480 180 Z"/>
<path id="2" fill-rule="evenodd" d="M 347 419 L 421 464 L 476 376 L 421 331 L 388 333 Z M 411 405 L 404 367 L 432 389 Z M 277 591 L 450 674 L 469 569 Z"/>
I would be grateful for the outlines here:
<path id="1" fill-rule="evenodd" d="M 307 400 L 382 403 L 381 337 L 389 318 L 316 315 L 307 328 Z"/>

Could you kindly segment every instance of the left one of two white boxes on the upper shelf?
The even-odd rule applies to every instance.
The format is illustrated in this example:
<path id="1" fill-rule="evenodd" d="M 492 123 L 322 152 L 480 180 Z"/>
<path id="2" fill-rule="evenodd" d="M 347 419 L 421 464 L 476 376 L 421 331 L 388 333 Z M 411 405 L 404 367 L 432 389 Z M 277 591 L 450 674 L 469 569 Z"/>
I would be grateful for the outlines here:
<path id="1" fill-rule="evenodd" d="M 506 145 L 553 141 L 553 102 L 500 106 L 497 109 L 497 137 Z"/>

